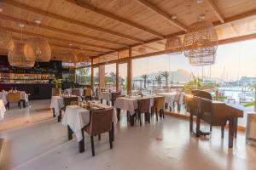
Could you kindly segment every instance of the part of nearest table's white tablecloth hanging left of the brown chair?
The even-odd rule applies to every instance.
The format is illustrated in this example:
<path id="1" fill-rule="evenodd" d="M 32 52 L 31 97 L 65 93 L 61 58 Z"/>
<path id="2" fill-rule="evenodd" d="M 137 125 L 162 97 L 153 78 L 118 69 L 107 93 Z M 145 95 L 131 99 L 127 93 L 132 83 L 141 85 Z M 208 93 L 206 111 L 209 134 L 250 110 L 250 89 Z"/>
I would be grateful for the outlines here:
<path id="1" fill-rule="evenodd" d="M 78 142 L 83 139 L 81 129 L 90 123 L 90 111 L 78 105 L 67 105 L 62 125 L 69 126 L 75 133 Z"/>

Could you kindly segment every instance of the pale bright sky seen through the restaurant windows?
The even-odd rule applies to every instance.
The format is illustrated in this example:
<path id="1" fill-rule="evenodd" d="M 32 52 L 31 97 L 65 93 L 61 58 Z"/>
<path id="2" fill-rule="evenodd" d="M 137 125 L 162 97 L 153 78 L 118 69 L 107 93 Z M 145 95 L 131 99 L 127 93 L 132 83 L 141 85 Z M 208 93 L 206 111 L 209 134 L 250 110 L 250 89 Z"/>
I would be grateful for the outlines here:
<path id="1" fill-rule="evenodd" d="M 126 65 L 119 66 L 119 74 L 126 77 Z M 256 39 L 219 45 L 214 65 L 192 66 L 183 54 L 157 55 L 132 60 L 132 76 L 139 77 L 158 71 L 192 71 L 196 76 L 236 81 L 242 76 L 256 77 Z M 115 64 L 106 65 L 106 71 L 115 72 Z"/>

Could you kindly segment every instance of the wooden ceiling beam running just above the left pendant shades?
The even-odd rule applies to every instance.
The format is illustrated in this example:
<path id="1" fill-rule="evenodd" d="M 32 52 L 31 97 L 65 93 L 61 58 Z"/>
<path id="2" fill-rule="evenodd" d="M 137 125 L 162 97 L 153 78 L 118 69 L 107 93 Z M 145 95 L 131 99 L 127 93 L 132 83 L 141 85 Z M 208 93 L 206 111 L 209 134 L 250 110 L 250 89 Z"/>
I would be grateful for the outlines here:
<path id="1" fill-rule="evenodd" d="M 7 28 L 7 27 L 2 27 L 2 26 L 0 26 L 0 28 L 2 28 L 5 31 L 9 31 L 9 32 L 14 32 L 14 33 L 20 34 L 20 30 L 15 30 L 13 28 Z M 48 37 L 48 36 L 43 36 L 43 35 L 35 34 L 35 33 L 32 33 L 32 32 L 28 32 L 28 31 L 22 31 L 22 33 L 27 35 L 27 36 L 44 37 L 46 39 L 55 40 L 55 41 L 59 41 L 59 42 L 76 43 L 76 44 L 79 44 L 79 45 L 83 45 L 84 44 L 84 42 L 76 42 L 76 41 L 67 40 L 67 39 L 63 39 L 63 38 L 57 38 L 57 37 Z M 90 51 L 90 52 L 103 53 L 102 51 L 96 51 L 96 50 L 92 50 L 92 49 L 86 49 L 86 50 Z"/>

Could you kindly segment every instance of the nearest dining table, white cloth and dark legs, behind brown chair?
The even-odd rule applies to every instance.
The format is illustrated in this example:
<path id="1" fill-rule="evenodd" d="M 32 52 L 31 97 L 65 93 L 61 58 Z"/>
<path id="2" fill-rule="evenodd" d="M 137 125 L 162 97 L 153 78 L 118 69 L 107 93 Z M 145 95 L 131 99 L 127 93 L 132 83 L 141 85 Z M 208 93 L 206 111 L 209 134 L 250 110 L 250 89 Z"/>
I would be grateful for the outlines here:
<path id="1" fill-rule="evenodd" d="M 67 139 L 73 139 L 75 134 L 79 142 L 79 152 L 84 152 L 84 127 L 90 124 L 90 114 L 92 111 L 102 111 L 113 108 L 109 105 L 94 104 L 94 106 L 85 105 L 67 105 L 63 116 L 62 125 L 67 126 Z M 113 110 L 112 132 L 114 133 L 114 123 L 117 123 L 116 112 Z M 114 136 L 114 135 L 113 135 Z"/>

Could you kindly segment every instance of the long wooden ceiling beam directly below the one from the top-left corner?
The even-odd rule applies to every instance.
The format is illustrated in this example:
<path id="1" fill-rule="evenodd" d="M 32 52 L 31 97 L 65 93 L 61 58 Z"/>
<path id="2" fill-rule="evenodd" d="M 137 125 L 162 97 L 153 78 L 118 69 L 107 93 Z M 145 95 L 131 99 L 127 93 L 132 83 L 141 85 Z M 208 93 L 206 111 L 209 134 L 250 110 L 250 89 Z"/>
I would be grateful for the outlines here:
<path id="1" fill-rule="evenodd" d="M 0 18 L 3 19 L 3 20 L 9 20 L 9 21 L 17 22 L 17 23 L 22 23 L 22 24 L 25 24 L 27 26 L 38 27 L 38 25 L 34 22 L 30 22 L 30 21 L 26 21 L 26 20 L 20 20 L 20 19 L 8 16 L 8 15 L 4 15 L 4 14 L 0 14 Z M 88 35 L 85 35 L 85 34 L 74 32 L 74 31 L 67 31 L 67 30 L 62 30 L 62 29 L 59 29 L 59 28 L 51 27 L 51 26 L 45 26 L 42 23 L 40 24 L 39 27 L 43 28 L 45 30 L 61 32 L 63 34 L 67 34 L 67 35 L 71 35 L 71 36 L 84 37 L 84 38 L 94 40 L 94 41 L 97 41 L 97 42 L 105 42 L 105 43 L 109 43 L 109 44 L 113 44 L 113 45 L 121 45 L 121 46 L 128 47 L 128 45 L 124 44 L 124 43 L 113 42 L 113 41 L 110 41 L 110 40 L 105 40 L 105 39 L 98 38 L 98 37 L 92 37 L 92 36 L 88 36 Z"/>

